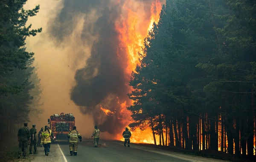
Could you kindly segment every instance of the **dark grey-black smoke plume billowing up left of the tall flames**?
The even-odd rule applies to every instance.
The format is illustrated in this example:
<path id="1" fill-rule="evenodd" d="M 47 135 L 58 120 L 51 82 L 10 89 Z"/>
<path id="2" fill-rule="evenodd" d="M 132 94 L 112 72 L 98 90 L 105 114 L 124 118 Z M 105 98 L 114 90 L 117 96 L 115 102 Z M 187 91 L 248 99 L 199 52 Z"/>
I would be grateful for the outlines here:
<path id="1" fill-rule="evenodd" d="M 154 0 L 137 0 L 148 15 L 152 1 Z M 71 99 L 80 106 L 82 113 L 93 116 L 94 123 L 102 132 L 111 134 L 120 133 L 128 125 L 123 119 L 129 119 L 127 114 L 121 112 L 119 104 L 129 100 L 126 94 L 130 87 L 125 78 L 130 77 L 124 73 L 128 58 L 118 47 L 119 39 L 115 31 L 115 22 L 120 20 L 125 0 L 117 2 L 118 0 L 64 0 L 63 9 L 54 23 L 51 22 L 53 25 L 50 28 L 51 35 L 57 38 L 60 45 L 75 30 L 76 15 L 85 14 L 87 17 L 96 10 L 96 22 L 84 22 L 81 39 L 85 44 L 90 41 L 88 35 L 98 36 L 98 39 L 93 42 L 86 67 L 76 71 L 76 86 L 71 90 Z M 107 116 L 100 105 L 114 114 Z"/>

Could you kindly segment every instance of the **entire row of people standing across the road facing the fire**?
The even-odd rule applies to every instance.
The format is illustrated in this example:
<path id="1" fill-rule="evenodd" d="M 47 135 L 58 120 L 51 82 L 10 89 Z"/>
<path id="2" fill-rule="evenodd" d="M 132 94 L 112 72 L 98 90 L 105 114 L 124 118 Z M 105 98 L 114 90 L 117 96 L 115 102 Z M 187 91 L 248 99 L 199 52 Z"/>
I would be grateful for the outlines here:
<path id="1" fill-rule="evenodd" d="M 44 153 L 46 156 L 49 155 L 50 147 L 51 147 L 51 137 L 54 140 L 54 136 L 52 130 L 46 125 L 44 128 L 42 127 L 38 133 L 38 143 L 36 140 L 36 125 L 33 124 L 32 128 L 29 130 L 28 123 L 24 123 L 24 127 L 21 127 L 18 131 L 18 142 L 19 142 L 19 155 L 18 159 L 20 159 L 21 153 L 23 153 L 23 159 L 26 159 L 26 150 L 28 145 L 29 146 L 29 154 L 32 154 L 32 148 L 34 146 L 34 154 L 37 152 L 37 146 L 44 145 Z M 94 147 L 98 147 L 99 145 L 99 134 L 100 130 L 98 129 L 97 125 L 94 126 L 92 137 L 94 137 Z M 128 128 L 125 128 L 125 131 L 122 133 L 122 136 L 125 138 L 124 145 L 128 142 L 128 147 L 130 147 L 130 137 L 131 132 Z M 77 155 L 77 147 L 78 147 L 78 139 L 82 142 L 82 137 L 80 133 L 76 130 L 76 126 L 73 127 L 67 137 L 69 139 L 69 148 L 70 148 L 70 156 Z"/>

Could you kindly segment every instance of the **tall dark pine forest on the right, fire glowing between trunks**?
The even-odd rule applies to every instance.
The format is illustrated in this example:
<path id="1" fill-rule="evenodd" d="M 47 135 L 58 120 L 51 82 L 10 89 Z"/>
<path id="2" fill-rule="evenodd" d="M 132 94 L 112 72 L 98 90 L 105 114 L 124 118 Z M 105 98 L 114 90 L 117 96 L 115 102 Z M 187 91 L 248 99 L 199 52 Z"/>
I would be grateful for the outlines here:
<path id="1" fill-rule="evenodd" d="M 144 45 L 129 126 L 155 145 L 254 159 L 256 0 L 166 0 Z"/>

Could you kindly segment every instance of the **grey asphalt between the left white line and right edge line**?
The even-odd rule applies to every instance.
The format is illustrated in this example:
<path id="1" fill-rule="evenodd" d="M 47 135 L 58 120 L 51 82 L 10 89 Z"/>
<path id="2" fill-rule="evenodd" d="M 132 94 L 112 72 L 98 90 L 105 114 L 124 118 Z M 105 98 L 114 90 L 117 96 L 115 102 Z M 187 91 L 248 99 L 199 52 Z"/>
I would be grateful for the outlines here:
<path id="1" fill-rule="evenodd" d="M 67 162 L 195 162 L 175 158 L 167 153 L 157 153 L 147 150 L 136 144 L 125 147 L 123 142 L 99 140 L 97 148 L 94 147 L 93 140 L 89 139 L 78 144 L 77 156 L 70 156 L 69 144 L 67 142 L 58 143 Z"/>

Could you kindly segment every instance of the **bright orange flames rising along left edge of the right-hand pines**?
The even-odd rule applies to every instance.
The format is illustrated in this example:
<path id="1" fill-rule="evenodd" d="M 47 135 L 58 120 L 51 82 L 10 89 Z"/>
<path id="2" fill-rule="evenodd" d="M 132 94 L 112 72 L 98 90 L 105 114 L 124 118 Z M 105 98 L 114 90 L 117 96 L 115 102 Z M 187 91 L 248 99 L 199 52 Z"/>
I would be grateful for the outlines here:
<path id="1" fill-rule="evenodd" d="M 130 80 L 131 72 L 135 69 L 137 64 L 140 64 L 139 55 L 137 53 L 142 53 L 144 38 L 147 37 L 148 31 L 153 28 L 154 23 L 158 23 L 162 9 L 160 0 L 155 0 L 151 4 L 151 16 L 149 18 L 145 18 L 145 14 L 148 13 L 141 13 L 142 10 L 134 9 L 132 4 L 134 4 L 132 0 L 125 1 L 125 4 L 122 7 L 122 12 L 124 14 L 122 14 L 121 20 L 115 24 L 116 32 L 119 33 L 120 40 L 117 55 L 120 58 L 119 53 L 126 52 L 128 58 L 128 61 L 125 64 L 125 77 L 127 79 L 127 83 Z M 105 113 L 109 113 L 109 111 L 103 108 L 101 109 Z M 135 131 L 131 133 L 131 142 L 133 143 L 154 143 L 152 130 L 149 128 L 143 131 L 136 128 Z M 122 135 L 117 138 L 122 141 L 124 140 Z"/>

